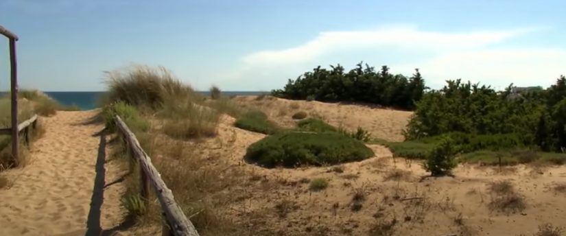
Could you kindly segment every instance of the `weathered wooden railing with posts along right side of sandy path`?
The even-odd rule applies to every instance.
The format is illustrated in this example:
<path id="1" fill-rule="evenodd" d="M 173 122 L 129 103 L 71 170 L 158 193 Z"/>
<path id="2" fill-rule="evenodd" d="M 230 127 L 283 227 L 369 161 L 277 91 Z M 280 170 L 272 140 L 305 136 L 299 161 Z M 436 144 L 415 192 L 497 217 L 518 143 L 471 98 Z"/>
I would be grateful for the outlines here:
<path id="1" fill-rule="evenodd" d="M 195 226 L 187 219 L 185 213 L 175 202 L 171 189 L 167 188 L 161 174 L 157 172 L 152 159 L 146 154 L 136 136 L 126 123 L 122 121 L 119 116 L 115 117 L 118 132 L 121 135 L 124 143 L 128 146 L 130 156 L 139 163 L 141 172 L 141 197 L 144 200 L 145 207 L 149 204 L 149 188 L 152 186 L 153 192 L 161 204 L 163 211 L 164 224 L 163 236 L 199 236 Z"/>

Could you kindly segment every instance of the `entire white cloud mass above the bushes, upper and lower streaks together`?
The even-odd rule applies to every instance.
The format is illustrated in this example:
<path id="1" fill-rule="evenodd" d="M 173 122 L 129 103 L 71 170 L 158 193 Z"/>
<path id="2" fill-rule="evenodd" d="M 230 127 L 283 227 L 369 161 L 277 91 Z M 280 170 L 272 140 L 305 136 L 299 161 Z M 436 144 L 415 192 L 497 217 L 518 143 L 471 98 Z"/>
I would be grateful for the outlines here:
<path id="1" fill-rule="evenodd" d="M 444 84 L 445 80 L 462 78 L 464 81 L 493 86 L 507 86 L 510 83 L 519 86 L 547 86 L 558 75 L 566 73 L 566 49 L 510 48 L 505 44 L 510 38 L 543 29 L 548 28 L 454 33 L 397 25 L 372 31 L 321 32 L 303 45 L 248 54 L 241 58 L 241 67 L 224 74 L 222 78 L 251 80 L 250 75 L 254 77 L 253 72 L 257 70 L 268 71 L 272 75 L 288 74 L 292 69 L 313 68 L 323 61 L 322 64 L 325 64 L 329 58 L 346 58 L 363 52 L 364 56 L 369 57 L 359 60 L 379 60 L 379 63 L 388 64 L 393 73 L 410 75 L 415 68 L 419 68 L 425 79 L 432 84 Z M 384 61 L 383 58 L 388 58 L 387 54 L 392 51 L 402 52 L 406 55 L 405 58 L 411 60 L 403 61 L 403 58 L 398 57 L 397 63 Z M 345 63 L 349 67 L 350 62 L 330 63 Z M 379 68 L 379 65 L 375 66 Z M 293 71 L 293 74 L 303 72 L 305 71 Z M 273 79 L 281 82 L 286 80 Z M 281 82 L 275 82 L 274 87 L 279 87 Z"/>

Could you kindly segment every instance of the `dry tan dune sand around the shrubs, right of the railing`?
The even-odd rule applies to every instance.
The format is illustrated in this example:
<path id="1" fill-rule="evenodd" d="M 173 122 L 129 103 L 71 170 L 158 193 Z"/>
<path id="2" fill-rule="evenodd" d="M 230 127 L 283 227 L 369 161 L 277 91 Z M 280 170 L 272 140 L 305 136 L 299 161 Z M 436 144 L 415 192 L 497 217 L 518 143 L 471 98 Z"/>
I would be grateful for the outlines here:
<path id="1" fill-rule="evenodd" d="M 281 125 L 292 125 L 298 110 L 321 115 L 333 125 L 360 126 L 374 137 L 402 140 L 401 130 L 411 113 L 368 106 L 322 104 L 284 99 L 237 97 L 246 106 L 260 108 Z M 533 235 L 541 224 L 566 226 L 566 167 L 479 167 L 460 165 L 455 178 L 425 178 L 418 161 L 392 158 L 391 152 L 370 145 L 376 156 L 340 167 L 263 169 L 242 161 L 246 147 L 265 137 L 234 128 L 233 119 L 220 125 L 217 138 L 200 144 L 211 165 L 246 172 L 240 185 L 229 191 L 233 204 L 226 214 L 247 226 L 246 235 Z M 219 146 L 219 143 L 222 145 Z M 329 187 L 309 191 L 308 181 L 325 178 Z M 493 183 L 508 181 L 518 200 L 507 210 L 494 204 L 505 196 L 490 191 Z M 355 199 L 358 200 L 355 200 Z M 361 200 L 359 200 L 361 199 Z M 521 206 L 521 202 L 524 204 Z M 524 207 L 524 209 L 522 209 Z M 394 226 L 386 223 L 394 220 Z M 267 233 L 266 232 L 270 232 Z M 156 232 L 157 235 L 157 232 Z"/>

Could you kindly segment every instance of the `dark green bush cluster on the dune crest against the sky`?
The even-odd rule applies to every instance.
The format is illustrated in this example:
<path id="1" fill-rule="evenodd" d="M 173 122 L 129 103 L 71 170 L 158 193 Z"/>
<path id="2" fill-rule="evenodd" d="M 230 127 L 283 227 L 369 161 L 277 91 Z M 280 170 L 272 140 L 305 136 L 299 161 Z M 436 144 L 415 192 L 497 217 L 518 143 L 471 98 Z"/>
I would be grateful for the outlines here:
<path id="1" fill-rule="evenodd" d="M 425 93 L 425 80 L 416 72 L 407 78 L 389 73 L 387 66 L 376 71 L 362 62 L 346 72 L 340 64 L 332 69 L 316 67 L 289 80 L 285 88 L 272 91 L 275 97 L 321 102 L 368 102 L 411 110 Z"/>

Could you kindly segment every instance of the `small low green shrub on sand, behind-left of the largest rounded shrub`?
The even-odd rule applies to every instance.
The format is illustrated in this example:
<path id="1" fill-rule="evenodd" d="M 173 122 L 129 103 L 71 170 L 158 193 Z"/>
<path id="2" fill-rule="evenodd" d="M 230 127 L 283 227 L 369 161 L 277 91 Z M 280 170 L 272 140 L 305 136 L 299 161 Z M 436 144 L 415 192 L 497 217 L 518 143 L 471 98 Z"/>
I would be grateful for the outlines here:
<path id="1" fill-rule="evenodd" d="M 259 132 L 261 134 L 274 134 L 278 129 L 268 120 L 266 113 L 251 110 L 236 119 L 234 126 L 242 130 Z"/>

